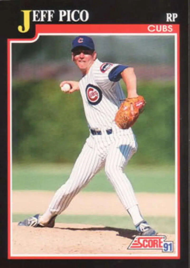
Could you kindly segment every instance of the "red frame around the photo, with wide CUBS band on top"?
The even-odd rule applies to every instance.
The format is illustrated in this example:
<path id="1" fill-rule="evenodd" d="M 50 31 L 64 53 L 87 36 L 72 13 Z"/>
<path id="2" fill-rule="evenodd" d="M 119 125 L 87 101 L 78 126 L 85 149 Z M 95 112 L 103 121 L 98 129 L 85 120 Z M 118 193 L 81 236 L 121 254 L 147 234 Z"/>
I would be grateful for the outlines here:
<path id="1" fill-rule="evenodd" d="M 161 29 L 160 31 L 150 32 L 151 29 Z M 158 25 L 158 26 L 157 26 Z M 8 211 L 8 259 L 180 259 L 180 26 L 179 24 L 171 24 L 172 32 L 165 30 L 168 24 L 36 24 L 35 36 L 31 39 L 7 39 L 7 211 Z M 160 28 L 161 27 L 161 28 Z M 177 202 L 178 202 L 178 255 L 177 256 L 11 256 L 10 255 L 10 174 L 11 174 L 11 139 L 10 139 L 10 42 L 11 41 L 32 41 L 35 40 L 40 33 L 70 33 L 73 35 L 81 33 L 177 33 Z"/>

